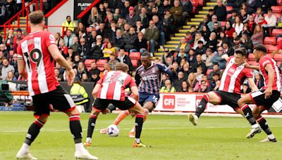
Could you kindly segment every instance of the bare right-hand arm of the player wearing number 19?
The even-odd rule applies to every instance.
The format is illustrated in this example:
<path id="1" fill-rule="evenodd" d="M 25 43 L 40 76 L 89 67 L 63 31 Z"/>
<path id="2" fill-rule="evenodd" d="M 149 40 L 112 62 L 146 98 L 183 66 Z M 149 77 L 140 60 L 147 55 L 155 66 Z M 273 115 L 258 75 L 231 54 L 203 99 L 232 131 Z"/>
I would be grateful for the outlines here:
<path id="1" fill-rule="evenodd" d="M 58 46 L 56 46 L 56 44 L 51 44 L 48 47 L 48 50 L 51 53 L 52 58 L 54 58 L 54 60 L 56 60 L 56 62 L 58 62 L 59 65 L 66 68 L 66 77 L 68 79 L 68 86 L 71 86 L 75 79 L 75 72 L 73 71 L 73 68 L 70 65 L 68 65 L 66 59 L 63 58 L 63 55 L 60 54 Z"/>

